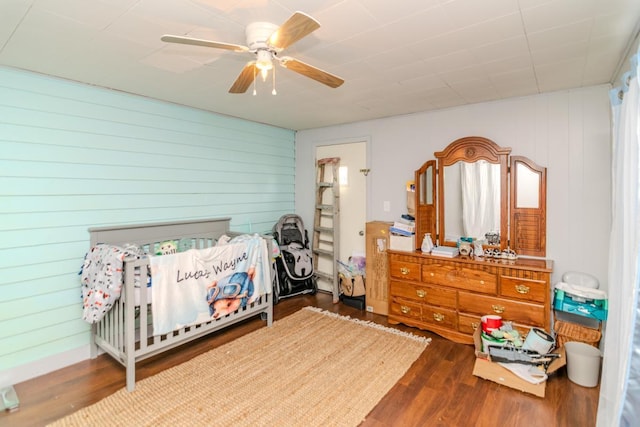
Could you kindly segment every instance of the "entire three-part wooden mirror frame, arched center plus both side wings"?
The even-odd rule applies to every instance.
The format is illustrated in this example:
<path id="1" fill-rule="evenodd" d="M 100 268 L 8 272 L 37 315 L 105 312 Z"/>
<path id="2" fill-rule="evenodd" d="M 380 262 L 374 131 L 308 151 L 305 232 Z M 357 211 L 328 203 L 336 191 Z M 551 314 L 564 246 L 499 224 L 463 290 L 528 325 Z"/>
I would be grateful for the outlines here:
<path id="1" fill-rule="evenodd" d="M 460 138 L 444 150 L 434 153 L 435 160 L 428 160 L 415 171 L 416 184 L 416 248 L 420 249 L 425 233 L 435 236 L 439 245 L 455 246 L 457 242 L 444 241 L 445 203 L 444 167 L 459 161 L 486 160 L 500 165 L 500 250 L 510 247 L 518 255 L 546 256 L 547 213 L 547 169 L 524 156 L 511 156 L 511 148 L 497 145 L 480 136 Z M 517 165 L 522 164 L 538 176 L 538 207 L 519 208 Z M 430 169 L 431 168 L 431 169 Z M 423 189 L 427 180 L 423 176 L 431 173 L 433 188 Z M 423 203 L 421 192 L 430 190 L 435 195 L 433 203 Z M 497 247 L 497 246 L 496 246 Z"/>

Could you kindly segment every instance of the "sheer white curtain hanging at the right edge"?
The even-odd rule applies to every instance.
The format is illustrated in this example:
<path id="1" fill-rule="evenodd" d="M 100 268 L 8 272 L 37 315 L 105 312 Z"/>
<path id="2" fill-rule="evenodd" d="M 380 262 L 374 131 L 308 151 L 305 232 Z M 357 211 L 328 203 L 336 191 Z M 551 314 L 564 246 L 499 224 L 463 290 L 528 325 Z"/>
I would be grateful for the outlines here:
<path id="1" fill-rule="evenodd" d="M 623 86 L 611 91 L 612 219 L 609 240 L 609 315 L 598 426 L 638 425 L 640 420 L 640 94 L 638 55 Z"/>

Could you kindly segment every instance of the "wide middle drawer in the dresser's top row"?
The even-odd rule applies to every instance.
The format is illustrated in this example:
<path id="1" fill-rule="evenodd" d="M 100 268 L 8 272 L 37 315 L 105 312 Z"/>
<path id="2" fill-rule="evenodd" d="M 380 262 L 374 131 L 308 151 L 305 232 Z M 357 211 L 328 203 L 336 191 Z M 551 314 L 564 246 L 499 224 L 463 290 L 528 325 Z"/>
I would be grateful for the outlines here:
<path id="1" fill-rule="evenodd" d="M 495 274 L 460 265 L 425 264 L 422 266 L 422 281 L 493 295 L 498 290 Z"/>

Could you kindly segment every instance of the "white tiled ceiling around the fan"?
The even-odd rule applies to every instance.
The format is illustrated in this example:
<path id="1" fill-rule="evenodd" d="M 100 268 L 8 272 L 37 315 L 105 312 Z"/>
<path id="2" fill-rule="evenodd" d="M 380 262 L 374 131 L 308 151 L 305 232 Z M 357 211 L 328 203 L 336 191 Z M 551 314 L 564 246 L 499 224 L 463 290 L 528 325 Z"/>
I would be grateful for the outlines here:
<path id="1" fill-rule="evenodd" d="M 229 94 L 245 26 L 300 10 L 321 27 L 287 48 L 336 74 L 331 89 L 277 67 Z M 300 130 L 610 83 L 638 0 L 1 0 L 0 64 Z M 626 67 L 626 64 L 622 64 Z"/>

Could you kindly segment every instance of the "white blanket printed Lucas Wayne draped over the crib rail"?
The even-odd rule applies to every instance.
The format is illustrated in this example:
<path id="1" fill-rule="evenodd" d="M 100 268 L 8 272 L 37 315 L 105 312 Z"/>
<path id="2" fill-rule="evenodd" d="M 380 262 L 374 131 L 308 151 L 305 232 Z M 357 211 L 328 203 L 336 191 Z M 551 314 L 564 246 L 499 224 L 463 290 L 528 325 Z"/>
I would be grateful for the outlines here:
<path id="1" fill-rule="evenodd" d="M 153 334 L 223 317 L 270 293 L 269 257 L 257 234 L 151 257 Z"/>

